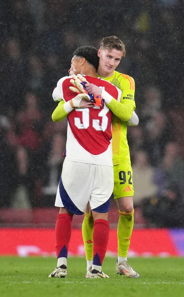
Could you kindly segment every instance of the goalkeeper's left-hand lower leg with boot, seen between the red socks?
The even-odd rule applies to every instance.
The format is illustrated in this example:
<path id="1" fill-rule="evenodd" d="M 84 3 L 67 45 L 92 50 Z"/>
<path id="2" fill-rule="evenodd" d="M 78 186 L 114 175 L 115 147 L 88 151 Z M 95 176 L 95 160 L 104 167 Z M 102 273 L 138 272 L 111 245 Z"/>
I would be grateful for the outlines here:
<path id="1" fill-rule="evenodd" d="M 85 209 L 85 216 L 82 224 L 82 235 L 85 249 L 85 256 L 87 262 L 87 273 L 86 278 L 91 275 L 91 268 L 93 265 L 93 228 L 94 219 L 92 216 L 91 207 L 88 203 Z"/>

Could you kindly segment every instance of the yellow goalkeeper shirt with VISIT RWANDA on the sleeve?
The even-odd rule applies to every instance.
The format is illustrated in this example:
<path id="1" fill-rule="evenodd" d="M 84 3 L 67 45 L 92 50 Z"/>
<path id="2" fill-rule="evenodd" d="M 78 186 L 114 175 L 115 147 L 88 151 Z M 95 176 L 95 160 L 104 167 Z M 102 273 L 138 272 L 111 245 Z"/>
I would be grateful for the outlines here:
<path id="1" fill-rule="evenodd" d="M 99 76 L 99 75 L 98 75 Z M 135 109 L 135 82 L 134 79 L 129 75 L 122 74 L 120 72 L 114 71 L 114 75 L 108 78 L 103 78 L 104 80 L 109 81 L 122 91 L 121 103 L 128 105 Z M 110 102 L 107 106 L 112 110 L 113 113 L 116 113 L 116 106 L 113 106 L 114 100 Z M 126 112 L 126 111 L 125 111 Z M 125 120 L 129 120 L 132 114 L 127 112 L 124 114 Z M 127 141 L 127 125 L 126 121 L 121 120 L 115 114 L 112 118 L 112 153 L 113 153 L 113 165 L 118 164 L 127 164 L 131 163 L 130 161 L 130 152 L 129 145 Z"/>

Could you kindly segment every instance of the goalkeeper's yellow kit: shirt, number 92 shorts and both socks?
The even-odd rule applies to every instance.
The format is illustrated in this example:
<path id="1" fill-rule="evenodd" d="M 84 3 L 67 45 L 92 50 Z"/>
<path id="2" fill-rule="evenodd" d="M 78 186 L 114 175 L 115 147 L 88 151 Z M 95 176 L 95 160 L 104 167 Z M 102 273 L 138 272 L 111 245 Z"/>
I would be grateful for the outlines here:
<path id="1" fill-rule="evenodd" d="M 98 75 L 99 76 L 99 75 Z M 101 77 L 102 78 L 102 77 Z M 114 71 L 109 78 L 103 78 L 109 81 L 122 91 L 121 102 L 112 98 L 107 106 L 114 113 L 112 118 L 112 152 L 113 152 L 113 170 L 114 170 L 114 190 L 115 200 L 120 197 L 131 197 L 134 195 L 132 182 L 132 168 L 130 160 L 129 145 L 127 141 L 127 124 L 135 109 L 134 79 L 129 75 Z M 117 116 L 118 117 L 117 117 Z M 134 225 L 134 210 L 125 213 L 119 210 L 118 221 L 118 257 L 127 257 L 130 237 Z M 93 217 L 85 212 L 85 218 L 82 225 L 84 247 L 86 260 L 92 260 L 92 239 L 93 239 Z"/>

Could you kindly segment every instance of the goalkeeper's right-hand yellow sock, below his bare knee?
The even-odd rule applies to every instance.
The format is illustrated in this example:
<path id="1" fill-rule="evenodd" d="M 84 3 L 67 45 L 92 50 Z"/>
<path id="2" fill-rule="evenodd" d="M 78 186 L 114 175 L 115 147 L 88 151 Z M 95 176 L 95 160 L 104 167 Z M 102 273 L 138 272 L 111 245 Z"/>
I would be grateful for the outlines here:
<path id="1" fill-rule="evenodd" d="M 119 210 L 119 221 L 118 221 L 118 256 L 127 257 L 130 238 L 134 226 L 134 210 L 130 213 L 122 212 Z"/>

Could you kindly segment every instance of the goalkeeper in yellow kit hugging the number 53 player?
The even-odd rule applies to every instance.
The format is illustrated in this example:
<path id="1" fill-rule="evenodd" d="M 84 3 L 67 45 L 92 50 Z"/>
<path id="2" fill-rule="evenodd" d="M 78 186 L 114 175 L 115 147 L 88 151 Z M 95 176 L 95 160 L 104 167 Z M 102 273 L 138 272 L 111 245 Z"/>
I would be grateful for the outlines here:
<path id="1" fill-rule="evenodd" d="M 116 272 L 126 277 L 137 278 L 139 274 L 135 272 L 127 262 L 127 255 L 130 246 L 130 238 L 134 225 L 133 195 L 134 187 L 132 181 L 132 168 L 129 146 L 127 141 L 127 124 L 137 125 L 138 118 L 134 113 L 135 83 L 129 75 L 115 71 L 121 58 L 126 55 L 125 45 L 116 36 L 104 37 L 98 50 L 99 67 L 97 75 L 99 78 L 109 81 L 122 91 L 121 103 L 109 96 L 103 89 L 99 89 L 93 84 L 85 84 L 86 90 L 90 94 L 96 94 L 105 99 L 105 103 L 114 113 L 112 119 L 112 152 L 114 170 L 113 194 L 117 201 L 119 210 L 118 221 L 118 260 Z M 70 75 L 73 69 L 69 69 Z M 120 107 L 120 104 L 122 105 Z M 122 108 L 122 116 L 118 116 L 119 109 Z M 128 121 L 131 118 L 131 123 Z M 87 274 L 91 274 L 92 248 L 93 248 L 93 216 L 90 207 L 86 208 L 85 218 L 82 226 L 83 241 L 87 260 Z"/>

